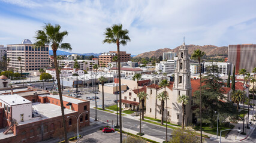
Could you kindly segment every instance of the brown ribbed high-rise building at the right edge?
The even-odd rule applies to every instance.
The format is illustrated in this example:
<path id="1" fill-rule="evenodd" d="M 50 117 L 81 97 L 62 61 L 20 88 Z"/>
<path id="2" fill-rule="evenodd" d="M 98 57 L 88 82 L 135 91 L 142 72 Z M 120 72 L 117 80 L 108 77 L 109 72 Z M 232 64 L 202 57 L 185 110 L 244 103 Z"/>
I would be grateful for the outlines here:
<path id="1" fill-rule="evenodd" d="M 256 45 L 228 45 L 228 61 L 236 66 L 236 74 L 239 73 L 240 69 L 246 69 L 251 73 L 252 69 L 256 67 Z"/>

